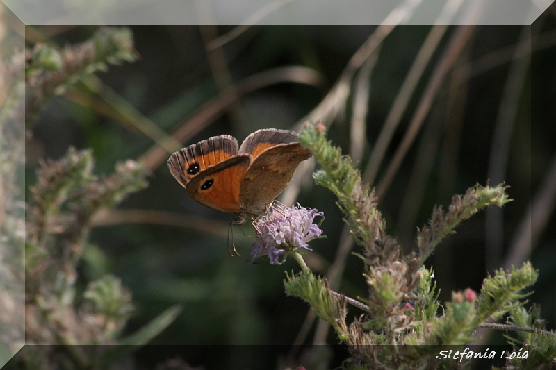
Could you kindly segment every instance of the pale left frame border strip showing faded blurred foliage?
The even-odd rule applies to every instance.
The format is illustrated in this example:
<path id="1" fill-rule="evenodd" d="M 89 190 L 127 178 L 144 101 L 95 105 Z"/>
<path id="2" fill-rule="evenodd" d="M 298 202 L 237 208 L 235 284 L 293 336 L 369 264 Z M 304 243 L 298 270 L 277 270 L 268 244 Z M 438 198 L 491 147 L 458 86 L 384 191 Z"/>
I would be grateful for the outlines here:
<path id="1" fill-rule="evenodd" d="M 1 63 L 1 67 L 10 65 Z M 22 69 L 0 67 L 0 367 L 25 343 L 24 84 Z M 15 95 L 12 99 L 11 94 Z"/>

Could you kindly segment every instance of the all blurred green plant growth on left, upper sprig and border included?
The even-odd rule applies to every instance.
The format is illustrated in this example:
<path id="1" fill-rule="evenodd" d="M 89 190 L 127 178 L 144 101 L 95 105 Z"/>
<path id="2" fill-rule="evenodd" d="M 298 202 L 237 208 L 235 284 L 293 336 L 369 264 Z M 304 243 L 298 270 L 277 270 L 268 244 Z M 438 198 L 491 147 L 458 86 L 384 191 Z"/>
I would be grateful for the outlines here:
<path id="1" fill-rule="evenodd" d="M 2 62 L 0 72 L 10 90 L 0 108 L 1 177 L 5 180 L 0 182 L 2 199 L 3 190 L 13 190 L 10 182 L 15 181 L 15 167 L 24 165 L 23 153 L 18 150 L 23 147 L 24 137 L 24 125 L 18 122 L 23 120 L 22 106 L 26 121 L 32 122 L 51 96 L 65 92 L 83 78 L 94 78 L 92 73 L 106 69 L 108 64 L 134 59 L 131 30 L 103 27 L 81 44 L 58 49 L 39 43 L 24 51 L 16 50 Z M 17 73 L 22 69 L 24 83 Z M 0 213 L 0 229 L 9 239 L 2 238 L 0 255 L 2 262 L 10 258 L 14 263 L 10 264 L 12 269 L 0 268 L 0 275 L 9 274 L 10 281 L 17 283 L 24 281 L 25 289 L 24 293 L 16 292 L 15 283 L 9 287 L 11 290 L 0 289 L 1 293 L 8 293 L 4 294 L 4 301 L 5 307 L 10 308 L 0 315 L 0 328 L 10 329 L 0 330 L 6 339 L 2 342 L 13 345 L 10 351 L 17 351 L 15 345 L 20 347 L 23 340 L 26 344 L 51 345 L 26 346 L 17 356 L 19 369 L 54 369 L 60 362 L 68 369 L 106 369 L 132 346 L 107 346 L 101 353 L 99 348 L 76 344 L 142 345 L 179 313 L 179 307 L 172 307 L 122 339 L 120 334 L 133 312 L 133 303 L 131 292 L 120 279 L 107 274 L 89 282 L 83 292 L 77 287 L 77 265 L 88 246 L 92 217 L 101 208 L 114 207 L 131 192 L 147 186 L 146 169 L 133 160 L 118 163 L 113 174 L 107 176 L 96 176 L 93 169 L 92 151 L 70 148 L 60 160 L 40 162 L 37 182 L 29 187 L 24 226 L 23 217 L 21 223 L 13 217 L 17 215 L 17 199 L 9 199 L 6 208 L 1 207 L 8 213 Z M 4 233 L 5 230 L 10 231 Z M 11 244 L 16 248 L 9 248 Z M 18 259 L 23 258 L 23 251 L 17 246 L 23 249 L 23 244 L 24 271 L 19 271 Z M 24 299 L 17 303 L 24 304 L 24 310 L 15 304 L 23 294 Z M 19 333 L 15 329 L 23 315 L 24 333 Z M 16 323 L 14 328 L 10 327 L 10 320 Z M 7 354 L 6 345 L 2 344 L 0 366 L 6 362 Z"/>

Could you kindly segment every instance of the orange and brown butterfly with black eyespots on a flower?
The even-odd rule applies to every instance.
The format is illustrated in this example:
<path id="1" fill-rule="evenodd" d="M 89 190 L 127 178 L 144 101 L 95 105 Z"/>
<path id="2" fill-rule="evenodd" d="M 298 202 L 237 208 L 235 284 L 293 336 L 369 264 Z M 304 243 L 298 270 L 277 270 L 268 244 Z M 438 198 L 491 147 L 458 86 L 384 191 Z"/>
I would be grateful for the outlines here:
<path id="1" fill-rule="evenodd" d="M 230 135 L 214 136 L 168 158 L 174 178 L 195 201 L 235 214 L 234 224 L 257 217 L 288 185 L 311 152 L 293 131 L 268 128 L 238 146 Z"/>

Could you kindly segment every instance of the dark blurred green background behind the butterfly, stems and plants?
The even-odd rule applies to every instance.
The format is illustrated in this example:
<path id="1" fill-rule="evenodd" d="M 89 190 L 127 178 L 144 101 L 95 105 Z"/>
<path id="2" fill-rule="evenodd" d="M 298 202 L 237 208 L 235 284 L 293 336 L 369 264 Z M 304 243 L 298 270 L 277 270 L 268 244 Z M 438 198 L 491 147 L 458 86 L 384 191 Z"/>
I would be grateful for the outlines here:
<path id="1" fill-rule="evenodd" d="M 464 222 L 427 261 L 436 270 L 441 301 L 456 289 L 480 289 L 493 268 L 502 267 L 509 246 L 518 236 L 528 207 L 539 192 L 555 154 L 556 19 L 547 11 L 531 28 L 531 55 L 525 75 L 511 81 L 521 26 L 479 26 L 457 55 L 455 68 L 443 81 L 423 128 L 401 163 L 379 203 L 389 233 L 407 249 L 414 244 L 417 227 L 427 223 L 435 204 L 448 205 L 454 194 L 489 180 L 489 161 L 500 146 L 507 146 L 503 180 L 510 186 L 512 203 L 500 214 L 501 228 L 486 226 L 480 213 Z M 28 42 L 51 42 L 63 47 L 86 40 L 94 26 L 27 26 Z M 210 40 L 234 31 L 232 26 L 132 26 L 139 60 L 97 72 L 104 87 L 113 90 L 135 110 L 170 134 L 190 127 L 181 144 L 187 146 L 213 135 L 230 134 L 243 140 L 258 128 L 292 128 L 326 96 L 354 53 L 373 34 L 376 26 L 253 26 L 224 44 L 209 50 Z M 368 155 L 400 86 L 416 58 L 430 26 L 401 26 L 386 37 L 376 54 L 370 75 L 366 118 L 366 148 L 359 161 L 363 171 Z M 448 49 L 457 28 L 448 28 L 402 115 L 377 174 L 377 185 L 393 159 L 420 104 L 437 64 Z M 540 40 L 540 41 L 539 41 Z M 537 41 L 537 42 L 536 42 Z M 268 83 L 259 73 L 277 67 L 304 66 L 318 78 L 306 83 L 284 78 Z M 218 78 L 215 78 L 218 76 Z M 254 77 L 255 76 L 255 77 Z M 463 76 L 463 77 L 462 77 Z M 234 103 L 191 128 L 197 112 L 211 112 L 207 101 L 218 101 L 222 87 L 240 85 L 245 78 L 261 84 Z M 259 79 L 257 79 L 259 78 Z M 354 85 L 351 86 L 354 90 Z M 497 119 L 507 90 L 516 92 L 511 102 L 515 114 L 511 135 L 498 140 Z M 38 121 L 28 126 L 26 185 L 35 181 L 39 158 L 60 158 L 68 146 L 92 148 L 103 174 L 115 162 L 138 159 L 154 146 L 153 137 L 114 113 L 102 91 L 72 90 L 44 106 Z M 220 95 L 222 96 L 222 95 Z M 212 100 L 211 100 L 212 99 Z M 329 128 L 329 139 L 350 153 L 352 103 L 341 110 Z M 188 126 L 189 125 L 189 126 Z M 187 129 L 187 128 L 186 128 Z M 497 141 L 498 140 L 498 141 Z M 167 154 L 169 156 L 170 153 Z M 166 156 L 166 158 L 167 158 Z M 292 344 L 304 323 L 307 306 L 286 297 L 284 271 L 297 271 L 293 261 L 283 266 L 248 264 L 252 226 L 234 228 L 241 257 L 229 257 L 226 249 L 231 215 L 199 205 L 172 178 L 165 160 L 153 169 L 149 187 L 129 196 L 118 210 L 126 212 L 98 220 L 84 251 L 79 280 L 88 281 L 110 271 L 133 292 L 136 312 L 125 333 L 132 333 L 156 314 L 179 303 L 183 311 L 152 344 Z M 327 239 L 311 243 L 307 260 L 313 271 L 325 274 L 341 242 L 343 222 L 334 196 L 305 179 L 297 199 L 309 208 L 325 212 L 322 229 Z M 548 328 L 554 328 L 556 235 L 553 212 L 541 235 L 528 248 L 530 260 L 541 277 L 531 301 L 541 304 Z M 493 249 L 489 235 L 499 234 L 501 248 Z M 496 239 L 495 239 L 496 241 Z M 496 244 L 496 242 L 495 242 Z M 359 252 L 357 246 L 355 252 Z M 521 262 L 519 263 L 521 264 Z M 366 296 L 362 262 L 350 256 L 341 279 L 340 292 Z M 357 310 L 351 310 L 359 315 Z M 312 342 L 314 325 L 303 343 Z M 329 333 L 329 343 L 337 339 Z M 153 351 L 149 347 L 143 355 Z M 141 352 L 139 353 L 139 356 Z M 161 354 L 161 357 L 163 355 Z"/>

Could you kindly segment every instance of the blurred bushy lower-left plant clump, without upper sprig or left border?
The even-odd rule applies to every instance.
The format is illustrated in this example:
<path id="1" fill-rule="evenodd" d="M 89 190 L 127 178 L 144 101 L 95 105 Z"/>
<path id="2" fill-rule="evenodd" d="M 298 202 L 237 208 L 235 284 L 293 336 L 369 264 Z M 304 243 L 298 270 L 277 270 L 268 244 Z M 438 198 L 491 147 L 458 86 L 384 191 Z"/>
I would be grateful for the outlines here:
<path id="1" fill-rule="evenodd" d="M 76 344 L 145 344 L 179 313 L 173 307 L 137 333 L 118 339 L 133 312 L 131 292 L 107 274 L 76 289 L 77 264 L 88 243 L 92 217 L 130 192 L 147 186 L 145 168 L 127 160 L 113 174 L 95 176 L 92 151 L 70 148 L 60 160 L 41 162 L 26 214 L 26 343 L 59 344 L 65 360 L 79 369 L 104 369 L 129 347 L 113 346 L 102 355 Z M 53 347 L 31 346 L 22 366 L 42 359 L 51 368 Z M 28 364 L 27 364 L 28 365 Z"/>

